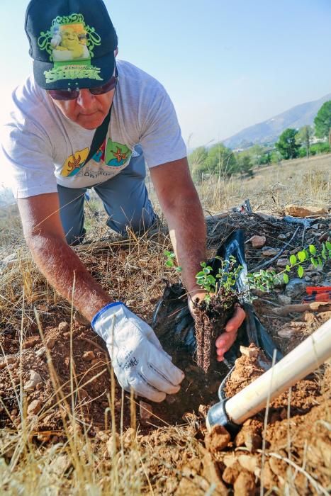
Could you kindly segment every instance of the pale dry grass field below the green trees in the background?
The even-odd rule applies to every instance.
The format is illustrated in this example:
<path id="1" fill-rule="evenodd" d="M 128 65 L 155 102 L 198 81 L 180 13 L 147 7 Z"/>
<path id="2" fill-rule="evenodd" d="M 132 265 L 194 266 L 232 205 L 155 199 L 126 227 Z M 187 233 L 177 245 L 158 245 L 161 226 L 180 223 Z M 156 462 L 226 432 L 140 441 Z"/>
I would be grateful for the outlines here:
<path id="1" fill-rule="evenodd" d="M 252 179 L 213 177 L 198 186 L 206 211 L 228 210 L 246 198 L 253 210 L 283 213 L 288 203 L 330 205 L 331 154 L 255 169 Z"/>

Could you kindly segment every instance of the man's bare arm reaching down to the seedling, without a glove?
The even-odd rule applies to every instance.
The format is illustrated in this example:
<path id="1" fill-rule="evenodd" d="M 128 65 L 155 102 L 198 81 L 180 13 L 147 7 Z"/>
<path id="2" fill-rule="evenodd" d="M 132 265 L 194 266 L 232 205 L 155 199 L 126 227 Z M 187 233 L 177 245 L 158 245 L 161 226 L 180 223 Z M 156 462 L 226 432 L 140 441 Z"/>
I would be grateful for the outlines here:
<path id="1" fill-rule="evenodd" d="M 206 260 L 206 223 L 187 159 L 152 167 L 150 176 L 168 222 L 186 290 L 192 297 L 203 293 L 195 276 L 201 261 Z"/>

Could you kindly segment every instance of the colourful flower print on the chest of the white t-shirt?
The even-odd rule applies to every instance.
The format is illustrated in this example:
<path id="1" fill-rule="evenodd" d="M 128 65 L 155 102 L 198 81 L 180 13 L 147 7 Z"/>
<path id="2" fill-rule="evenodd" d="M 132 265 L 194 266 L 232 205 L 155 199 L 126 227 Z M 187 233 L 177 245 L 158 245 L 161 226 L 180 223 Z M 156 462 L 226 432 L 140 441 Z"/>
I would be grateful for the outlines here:
<path id="1" fill-rule="evenodd" d="M 116 141 L 106 140 L 103 142 L 99 150 L 94 154 L 93 160 L 101 165 L 108 167 L 125 167 L 130 162 L 132 150 L 127 145 L 121 145 Z M 84 162 L 89 155 L 89 148 L 84 148 L 79 152 L 70 155 L 64 162 L 61 176 L 75 176 L 84 167 Z M 105 175 L 105 170 L 103 170 Z M 107 175 L 107 172 L 106 172 Z M 109 171 L 109 176 L 113 176 L 113 172 Z"/>

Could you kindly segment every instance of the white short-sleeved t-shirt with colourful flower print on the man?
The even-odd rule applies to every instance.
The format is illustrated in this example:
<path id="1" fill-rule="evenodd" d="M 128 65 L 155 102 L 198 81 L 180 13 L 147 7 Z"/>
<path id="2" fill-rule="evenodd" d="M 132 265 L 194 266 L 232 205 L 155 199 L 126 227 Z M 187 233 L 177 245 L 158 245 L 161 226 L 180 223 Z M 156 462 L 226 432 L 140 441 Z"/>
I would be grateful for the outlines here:
<path id="1" fill-rule="evenodd" d="M 94 186 L 128 166 L 138 143 L 148 167 L 186 157 L 174 106 L 162 84 L 118 61 L 118 86 L 106 140 L 84 166 L 95 130 L 66 118 L 32 77 L 13 91 L 11 120 L 2 143 L 12 168 L 13 194 L 27 198 Z"/>

